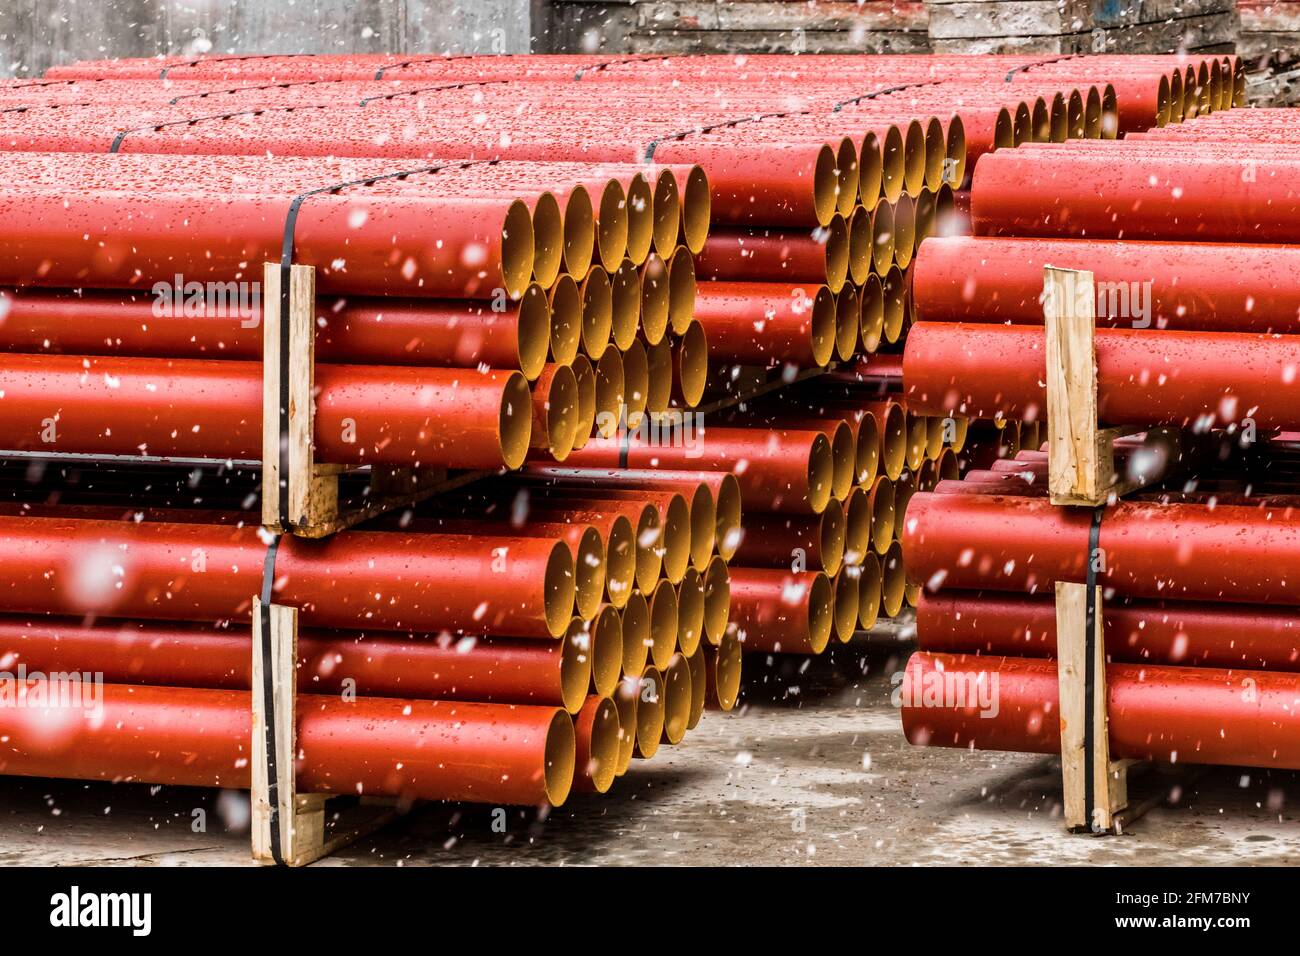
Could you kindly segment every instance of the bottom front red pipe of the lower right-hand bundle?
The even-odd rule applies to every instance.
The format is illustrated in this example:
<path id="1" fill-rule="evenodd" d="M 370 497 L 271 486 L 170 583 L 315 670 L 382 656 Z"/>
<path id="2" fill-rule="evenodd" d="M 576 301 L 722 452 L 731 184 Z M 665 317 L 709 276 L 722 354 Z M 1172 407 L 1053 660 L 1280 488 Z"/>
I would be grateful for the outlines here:
<path id="1" fill-rule="evenodd" d="M 1112 663 L 1106 696 L 1114 758 L 1300 769 L 1297 674 Z M 918 745 L 1060 753 L 1057 698 L 1054 661 L 918 652 L 902 726 Z"/>

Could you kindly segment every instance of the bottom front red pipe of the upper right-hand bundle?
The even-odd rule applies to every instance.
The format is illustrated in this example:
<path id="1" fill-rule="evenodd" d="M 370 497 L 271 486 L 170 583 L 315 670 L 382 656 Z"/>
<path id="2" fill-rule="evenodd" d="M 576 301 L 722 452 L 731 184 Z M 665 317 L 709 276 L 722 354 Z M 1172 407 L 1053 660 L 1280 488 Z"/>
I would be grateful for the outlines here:
<path id="1" fill-rule="evenodd" d="M 1300 339 L 1097 329 L 1097 415 L 1110 425 L 1300 424 Z M 1027 325 L 918 323 L 907 336 L 909 407 L 1034 420 L 1046 414 L 1044 336 Z"/>

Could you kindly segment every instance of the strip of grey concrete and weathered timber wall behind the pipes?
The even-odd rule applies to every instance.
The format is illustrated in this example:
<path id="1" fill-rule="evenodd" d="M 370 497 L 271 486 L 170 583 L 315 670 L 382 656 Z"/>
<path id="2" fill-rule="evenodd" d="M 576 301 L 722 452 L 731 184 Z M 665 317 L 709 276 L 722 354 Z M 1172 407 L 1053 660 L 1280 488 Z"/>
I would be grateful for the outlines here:
<path id="1" fill-rule="evenodd" d="M 1292 69 L 1300 56 L 1300 0 L 0 0 L 0 75 L 36 75 L 70 60 L 208 52 L 1234 47 L 1254 64 Z"/>

